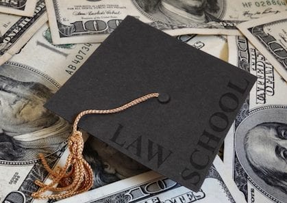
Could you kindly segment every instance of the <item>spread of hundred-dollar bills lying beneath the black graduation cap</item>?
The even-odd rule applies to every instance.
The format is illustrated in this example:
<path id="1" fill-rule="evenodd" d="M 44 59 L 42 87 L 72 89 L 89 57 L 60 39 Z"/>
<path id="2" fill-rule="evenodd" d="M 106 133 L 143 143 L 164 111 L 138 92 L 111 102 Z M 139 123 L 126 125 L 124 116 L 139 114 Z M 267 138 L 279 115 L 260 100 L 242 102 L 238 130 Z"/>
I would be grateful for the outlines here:
<path id="1" fill-rule="evenodd" d="M 286 0 L 0 0 L 0 202 L 53 202 L 38 154 L 63 165 L 71 126 L 43 105 L 127 15 L 258 80 L 200 191 L 86 134 L 94 185 L 59 202 L 287 202 Z"/>

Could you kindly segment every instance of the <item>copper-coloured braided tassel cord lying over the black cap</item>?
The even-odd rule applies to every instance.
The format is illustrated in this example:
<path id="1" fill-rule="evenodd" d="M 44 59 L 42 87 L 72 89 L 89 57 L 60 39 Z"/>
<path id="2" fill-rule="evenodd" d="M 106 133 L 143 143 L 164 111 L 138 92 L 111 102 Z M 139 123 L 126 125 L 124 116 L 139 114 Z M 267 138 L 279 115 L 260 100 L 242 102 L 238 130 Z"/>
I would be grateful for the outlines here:
<path id="1" fill-rule="evenodd" d="M 60 200 L 82 193 L 84 191 L 88 191 L 92 187 L 94 182 L 92 168 L 83 158 L 82 153 L 84 150 L 84 139 L 82 132 L 77 130 L 79 120 L 81 120 L 83 116 L 88 114 L 117 113 L 124 111 L 125 109 L 128 109 L 134 105 L 138 105 L 139 103 L 142 103 L 149 98 L 158 97 L 159 95 L 160 94 L 158 93 L 147 94 L 114 109 L 90 109 L 79 113 L 75 118 L 71 137 L 68 139 L 68 148 L 70 150 L 70 154 L 68 155 L 64 167 L 57 167 L 56 170 L 53 171 L 51 167 L 49 167 L 44 155 L 39 154 L 40 160 L 42 161 L 42 164 L 47 172 L 49 172 L 49 177 L 51 178 L 52 182 L 46 185 L 44 182 L 36 180 L 35 184 L 38 185 L 40 189 L 32 193 L 32 197 L 38 199 Z M 60 185 L 60 187 L 58 187 L 58 185 Z M 46 191 L 53 191 L 55 193 L 51 195 L 45 195 L 44 193 Z"/>

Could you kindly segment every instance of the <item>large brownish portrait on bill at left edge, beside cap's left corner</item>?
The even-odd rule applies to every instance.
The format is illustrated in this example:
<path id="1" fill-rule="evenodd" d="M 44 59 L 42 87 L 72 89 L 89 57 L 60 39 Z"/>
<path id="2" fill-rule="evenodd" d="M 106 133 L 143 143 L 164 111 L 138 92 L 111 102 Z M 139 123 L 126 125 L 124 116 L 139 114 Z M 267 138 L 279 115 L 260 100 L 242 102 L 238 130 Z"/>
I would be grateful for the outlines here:
<path id="1" fill-rule="evenodd" d="M 18 71 L 18 72 L 17 72 Z M 0 159 L 28 161 L 51 154 L 70 135 L 71 126 L 43 105 L 55 90 L 33 72 L 8 64 L 0 72 Z M 22 78 L 22 79 L 21 79 Z M 40 77 L 39 77 L 40 78 Z"/>

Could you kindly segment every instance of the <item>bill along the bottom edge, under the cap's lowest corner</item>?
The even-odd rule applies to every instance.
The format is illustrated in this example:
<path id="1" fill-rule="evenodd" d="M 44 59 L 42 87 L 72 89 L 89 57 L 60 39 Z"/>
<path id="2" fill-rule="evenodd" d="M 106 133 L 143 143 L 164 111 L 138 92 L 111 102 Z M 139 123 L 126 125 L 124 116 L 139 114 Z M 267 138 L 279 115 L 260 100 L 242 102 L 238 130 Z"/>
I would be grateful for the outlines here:
<path id="1" fill-rule="evenodd" d="M 225 176 L 223 163 L 216 157 L 198 192 L 191 191 L 155 172 L 147 172 L 59 201 L 59 203 L 66 202 L 243 203 L 245 200 L 234 182 Z"/>

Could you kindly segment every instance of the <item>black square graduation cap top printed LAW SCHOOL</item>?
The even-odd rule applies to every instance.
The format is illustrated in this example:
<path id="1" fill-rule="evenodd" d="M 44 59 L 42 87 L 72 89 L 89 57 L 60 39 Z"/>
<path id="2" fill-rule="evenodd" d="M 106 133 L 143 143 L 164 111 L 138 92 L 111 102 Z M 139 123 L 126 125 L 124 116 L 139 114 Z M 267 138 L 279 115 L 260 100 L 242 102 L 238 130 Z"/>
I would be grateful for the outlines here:
<path id="1" fill-rule="evenodd" d="M 198 191 L 254 82 L 249 73 L 127 16 L 45 107 L 73 122 L 86 109 L 168 94 L 168 103 L 151 98 L 120 113 L 85 116 L 79 127 Z"/>

